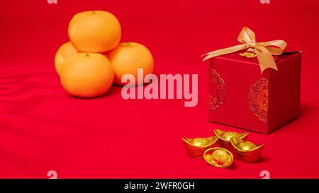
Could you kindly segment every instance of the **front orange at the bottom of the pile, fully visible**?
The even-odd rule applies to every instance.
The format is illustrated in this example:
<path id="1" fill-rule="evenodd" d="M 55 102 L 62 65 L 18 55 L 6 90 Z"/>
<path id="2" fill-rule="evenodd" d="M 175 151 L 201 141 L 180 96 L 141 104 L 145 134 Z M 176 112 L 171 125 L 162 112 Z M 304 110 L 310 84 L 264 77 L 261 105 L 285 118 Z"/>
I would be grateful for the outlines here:
<path id="1" fill-rule="evenodd" d="M 111 88 L 114 71 L 104 55 L 78 53 L 65 61 L 60 78 L 70 95 L 91 98 L 103 95 Z"/>

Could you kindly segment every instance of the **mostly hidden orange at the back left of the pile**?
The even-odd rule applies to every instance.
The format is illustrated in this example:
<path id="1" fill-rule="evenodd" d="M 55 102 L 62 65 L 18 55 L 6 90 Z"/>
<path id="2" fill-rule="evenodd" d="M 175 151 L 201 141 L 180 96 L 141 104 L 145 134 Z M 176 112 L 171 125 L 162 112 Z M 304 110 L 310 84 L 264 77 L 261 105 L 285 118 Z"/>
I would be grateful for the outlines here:
<path id="1" fill-rule="evenodd" d="M 60 75 L 61 67 L 65 63 L 65 60 L 78 52 L 71 42 L 66 42 L 57 49 L 57 53 L 55 54 L 55 70 L 57 74 Z"/>

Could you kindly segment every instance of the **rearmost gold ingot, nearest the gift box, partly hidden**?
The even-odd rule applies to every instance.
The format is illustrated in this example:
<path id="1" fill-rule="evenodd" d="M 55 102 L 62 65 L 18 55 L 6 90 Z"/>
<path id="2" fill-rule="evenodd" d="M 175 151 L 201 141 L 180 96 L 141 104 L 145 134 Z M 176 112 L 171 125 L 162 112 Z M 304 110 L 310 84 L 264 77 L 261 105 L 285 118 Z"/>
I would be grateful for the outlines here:
<path id="1" fill-rule="evenodd" d="M 216 134 L 216 136 L 218 136 L 218 138 L 220 139 L 220 146 L 231 151 L 233 150 L 233 147 L 230 144 L 230 139 L 232 137 L 235 137 L 244 140 L 247 138 L 249 132 L 245 131 L 243 133 L 237 133 L 235 131 L 222 131 L 220 129 L 215 129 L 214 134 Z"/>

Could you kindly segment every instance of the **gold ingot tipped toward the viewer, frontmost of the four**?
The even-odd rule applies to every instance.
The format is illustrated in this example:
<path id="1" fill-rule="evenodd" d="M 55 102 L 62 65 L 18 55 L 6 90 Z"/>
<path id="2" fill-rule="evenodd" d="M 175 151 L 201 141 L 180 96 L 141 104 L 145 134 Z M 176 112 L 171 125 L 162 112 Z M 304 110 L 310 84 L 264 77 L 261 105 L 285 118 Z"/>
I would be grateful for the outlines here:
<path id="1" fill-rule="evenodd" d="M 233 163 L 233 153 L 225 148 L 209 148 L 203 153 L 203 158 L 207 163 L 218 167 L 227 168 Z"/>

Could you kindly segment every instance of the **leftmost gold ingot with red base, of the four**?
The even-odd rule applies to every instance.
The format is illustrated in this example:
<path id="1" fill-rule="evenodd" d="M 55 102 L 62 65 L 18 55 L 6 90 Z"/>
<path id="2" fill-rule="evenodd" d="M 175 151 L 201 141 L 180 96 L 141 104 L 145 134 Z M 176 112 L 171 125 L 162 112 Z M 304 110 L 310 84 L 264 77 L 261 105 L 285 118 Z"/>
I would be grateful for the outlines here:
<path id="1" fill-rule="evenodd" d="M 184 142 L 187 154 L 191 158 L 203 158 L 203 153 L 208 149 L 216 146 L 217 136 L 196 137 L 181 139 Z"/>

